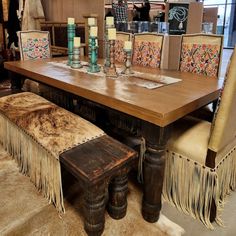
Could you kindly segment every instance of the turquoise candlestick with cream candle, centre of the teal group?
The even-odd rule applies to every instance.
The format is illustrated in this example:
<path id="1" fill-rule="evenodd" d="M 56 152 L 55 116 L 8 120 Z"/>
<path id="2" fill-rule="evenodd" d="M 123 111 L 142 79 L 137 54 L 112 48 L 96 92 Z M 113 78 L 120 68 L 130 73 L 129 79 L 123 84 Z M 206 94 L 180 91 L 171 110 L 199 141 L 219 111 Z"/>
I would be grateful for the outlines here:
<path id="1" fill-rule="evenodd" d="M 89 68 L 88 68 L 88 72 L 90 72 L 90 73 L 96 73 L 96 72 L 100 71 L 100 67 L 97 64 L 97 57 L 98 57 L 98 55 L 97 55 L 98 45 L 96 43 L 97 34 L 98 34 L 98 27 L 91 26 L 90 27 L 90 35 L 89 35 L 90 57 L 89 57 Z"/>

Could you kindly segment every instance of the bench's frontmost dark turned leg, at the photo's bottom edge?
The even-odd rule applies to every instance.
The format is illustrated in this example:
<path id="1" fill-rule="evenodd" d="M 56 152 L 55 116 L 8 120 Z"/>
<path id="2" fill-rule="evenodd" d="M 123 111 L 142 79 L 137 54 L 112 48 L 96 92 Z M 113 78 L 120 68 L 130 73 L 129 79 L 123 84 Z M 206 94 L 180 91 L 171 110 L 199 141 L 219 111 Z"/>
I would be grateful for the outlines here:
<path id="1" fill-rule="evenodd" d="M 105 224 L 105 184 L 85 189 L 84 228 L 89 236 L 98 236 L 102 234 Z"/>

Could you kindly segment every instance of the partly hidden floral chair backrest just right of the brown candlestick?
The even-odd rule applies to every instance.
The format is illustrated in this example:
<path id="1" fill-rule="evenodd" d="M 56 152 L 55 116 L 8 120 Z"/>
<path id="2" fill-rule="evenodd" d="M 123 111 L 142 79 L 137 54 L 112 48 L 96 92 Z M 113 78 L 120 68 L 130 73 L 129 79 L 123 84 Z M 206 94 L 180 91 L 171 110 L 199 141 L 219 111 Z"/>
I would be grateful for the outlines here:
<path id="1" fill-rule="evenodd" d="M 132 34 L 121 31 L 116 32 L 115 60 L 117 62 L 122 63 L 125 61 L 124 42 L 131 40 L 132 40 Z"/>

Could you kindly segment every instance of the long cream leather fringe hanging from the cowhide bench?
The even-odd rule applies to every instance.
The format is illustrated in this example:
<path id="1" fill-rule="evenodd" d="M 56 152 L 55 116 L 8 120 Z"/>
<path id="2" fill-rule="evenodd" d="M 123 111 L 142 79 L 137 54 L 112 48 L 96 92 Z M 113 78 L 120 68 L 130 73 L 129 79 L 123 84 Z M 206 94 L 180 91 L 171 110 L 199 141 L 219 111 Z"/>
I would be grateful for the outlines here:
<path id="1" fill-rule="evenodd" d="M 20 171 L 30 177 L 59 212 L 63 204 L 60 162 L 22 129 L 0 114 L 0 142 L 17 161 Z"/>

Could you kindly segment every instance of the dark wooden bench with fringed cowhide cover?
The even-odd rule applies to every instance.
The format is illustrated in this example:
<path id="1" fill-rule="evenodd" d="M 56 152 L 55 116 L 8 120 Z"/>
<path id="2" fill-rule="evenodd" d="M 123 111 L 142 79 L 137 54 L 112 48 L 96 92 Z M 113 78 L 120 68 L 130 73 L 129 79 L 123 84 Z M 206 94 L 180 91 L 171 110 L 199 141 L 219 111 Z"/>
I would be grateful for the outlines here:
<path id="1" fill-rule="evenodd" d="M 0 142 L 60 212 L 60 163 L 78 179 L 88 235 L 103 232 L 107 192 L 111 217 L 125 216 L 127 173 L 136 152 L 90 122 L 36 94 L 18 93 L 0 98 Z"/>

